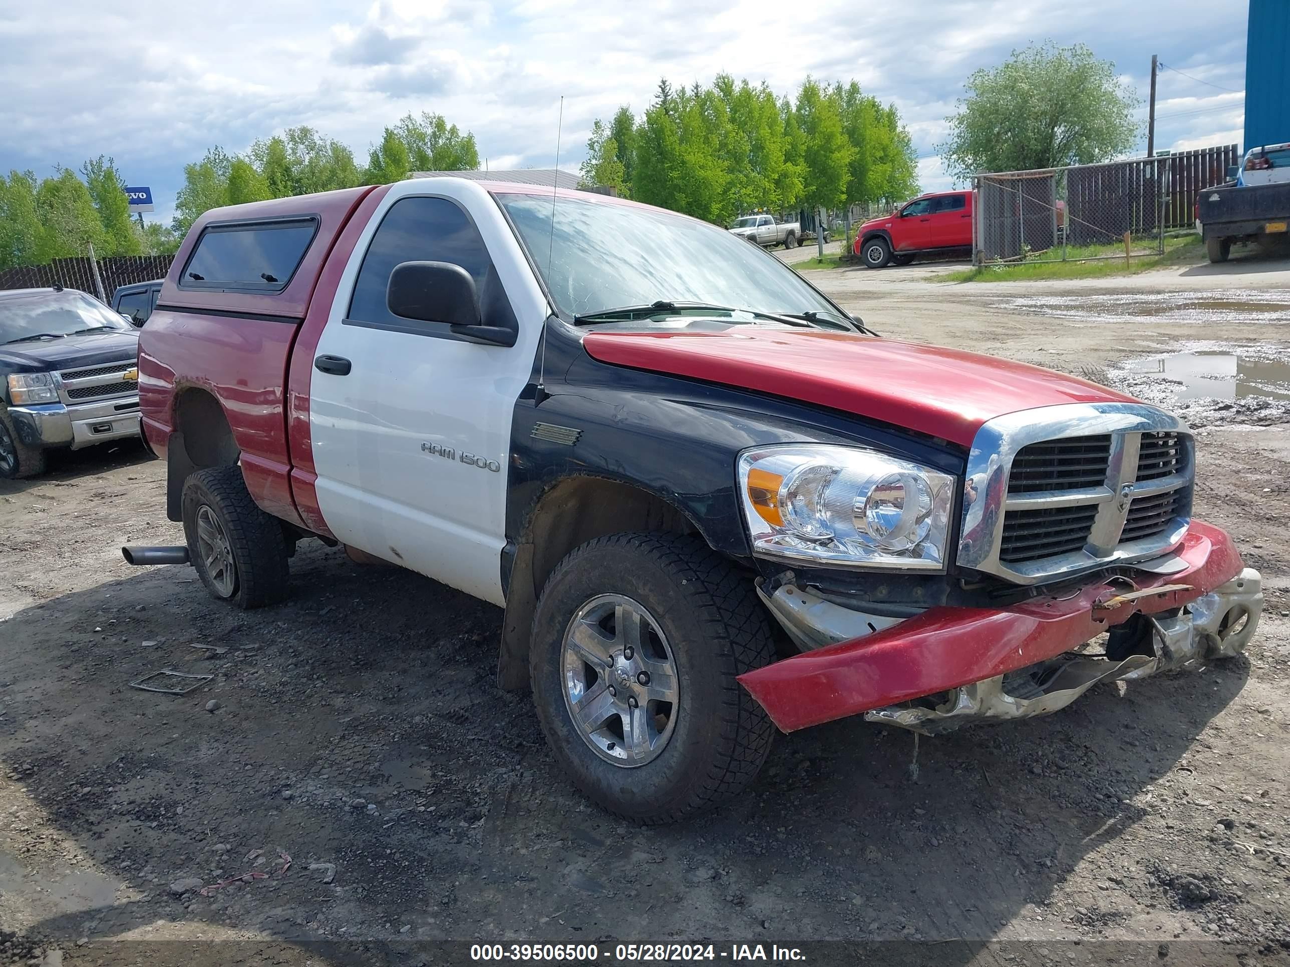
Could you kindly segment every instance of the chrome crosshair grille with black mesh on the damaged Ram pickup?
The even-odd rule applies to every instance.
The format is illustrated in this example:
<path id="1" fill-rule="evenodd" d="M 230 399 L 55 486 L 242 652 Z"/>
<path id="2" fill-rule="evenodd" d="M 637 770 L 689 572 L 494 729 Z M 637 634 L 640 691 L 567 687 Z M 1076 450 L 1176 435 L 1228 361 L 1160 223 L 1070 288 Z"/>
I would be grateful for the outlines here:
<path id="1" fill-rule="evenodd" d="M 1037 584 L 1176 547 L 1192 505 L 1192 438 L 1142 404 L 1064 404 L 977 432 L 960 567 Z"/>

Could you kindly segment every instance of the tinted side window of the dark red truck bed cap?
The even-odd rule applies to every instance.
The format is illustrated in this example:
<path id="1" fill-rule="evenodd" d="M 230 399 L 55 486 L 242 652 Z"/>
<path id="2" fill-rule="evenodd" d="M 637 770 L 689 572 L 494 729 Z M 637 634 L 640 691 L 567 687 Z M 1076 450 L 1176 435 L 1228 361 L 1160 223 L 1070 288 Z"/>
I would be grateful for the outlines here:
<path id="1" fill-rule="evenodd" d="M 304 258 L 316 227 L 312 219 L 209 226 L 179 285 L 280 291 Z"/>

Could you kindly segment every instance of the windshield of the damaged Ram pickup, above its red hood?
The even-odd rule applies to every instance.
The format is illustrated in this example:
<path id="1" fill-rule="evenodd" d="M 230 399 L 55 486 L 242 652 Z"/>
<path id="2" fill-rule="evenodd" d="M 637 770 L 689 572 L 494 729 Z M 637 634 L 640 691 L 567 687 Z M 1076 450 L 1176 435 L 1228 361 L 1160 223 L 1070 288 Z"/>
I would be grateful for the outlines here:
<path id="1" fill-rule="evenodd" d="M 706 222 L 659 209 L 560 197 L 552 232 L 550 196 L 497 197 L 556 307 L 568 316 L 664 300 L 846 317 L 774 255 Z"/>

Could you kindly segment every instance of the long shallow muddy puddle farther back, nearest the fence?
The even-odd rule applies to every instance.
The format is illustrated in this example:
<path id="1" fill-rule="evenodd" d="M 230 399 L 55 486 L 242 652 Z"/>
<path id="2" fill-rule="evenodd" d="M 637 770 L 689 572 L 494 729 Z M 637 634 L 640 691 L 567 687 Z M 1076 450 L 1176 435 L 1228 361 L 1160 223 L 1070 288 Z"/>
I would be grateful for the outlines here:
<path id="1" fill-rule="evenodd" d="M 1269 325 L 1290 322 L 1290 290 L 1218 289 L 1195 293 L 1116 293 L 1102 295 L 1026 295 L 996 308 L 1075 322 L 1161 322 Z"/>

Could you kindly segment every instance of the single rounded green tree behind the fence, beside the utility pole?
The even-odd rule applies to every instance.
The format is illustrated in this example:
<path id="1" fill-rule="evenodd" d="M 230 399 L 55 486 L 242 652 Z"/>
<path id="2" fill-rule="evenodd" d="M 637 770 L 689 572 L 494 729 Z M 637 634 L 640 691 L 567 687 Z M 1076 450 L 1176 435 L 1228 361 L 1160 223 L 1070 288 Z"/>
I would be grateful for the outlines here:
<path id="1" fill-rule="evenodd" d="M 947 170 L 960 177 L 1106 161 L 1129 153 L 1138 139 L 1133 113 L 1142 102 L 1115 64 L 1084 44 L 1014 50 L 964 88 L 966 97 L 946 119 L 949 137 L 938 146 Z"/>

